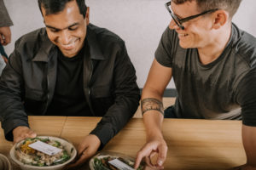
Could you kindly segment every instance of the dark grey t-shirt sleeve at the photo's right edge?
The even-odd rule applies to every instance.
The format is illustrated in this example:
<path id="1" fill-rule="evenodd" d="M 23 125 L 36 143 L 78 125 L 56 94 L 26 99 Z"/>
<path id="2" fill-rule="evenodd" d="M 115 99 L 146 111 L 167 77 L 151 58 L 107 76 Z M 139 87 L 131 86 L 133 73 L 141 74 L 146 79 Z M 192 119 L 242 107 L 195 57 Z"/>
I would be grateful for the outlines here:
<path id="1" fill-rule="evenodd" d="M 256 127 L 256 69 L 249 71 L 239 83 L 236 100 L 241 105 L 242 123 Z"/>

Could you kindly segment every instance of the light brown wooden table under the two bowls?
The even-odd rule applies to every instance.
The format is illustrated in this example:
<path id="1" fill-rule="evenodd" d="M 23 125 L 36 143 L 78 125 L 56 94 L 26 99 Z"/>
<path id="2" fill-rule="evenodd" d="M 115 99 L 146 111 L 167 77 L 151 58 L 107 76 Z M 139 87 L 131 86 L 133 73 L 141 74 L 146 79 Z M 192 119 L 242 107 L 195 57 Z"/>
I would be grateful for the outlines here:
<path id="1" fill-rule="evenodd" d="M 38 135 L 65 138 L 78 146 L 96 127 L 99 117 L 29 116 Z M 166 119 L 163 133 L 168 144 L 167 170 L 221 170 L 246 162 L 241 143 L 241 121 Z M 133 118 L 103 149 L 135 157 L 145 143 L 143 120 Z M 0 131 L 0 152 L 9 154 L 12 146 Z"/>

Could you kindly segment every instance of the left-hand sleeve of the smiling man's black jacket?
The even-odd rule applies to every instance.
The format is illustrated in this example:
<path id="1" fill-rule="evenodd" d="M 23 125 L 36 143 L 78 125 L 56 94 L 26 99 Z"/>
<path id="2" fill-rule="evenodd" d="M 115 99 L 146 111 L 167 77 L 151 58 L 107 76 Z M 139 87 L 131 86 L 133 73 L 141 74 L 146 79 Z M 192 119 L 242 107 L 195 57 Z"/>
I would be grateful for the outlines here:
<path id="1" fill-rule="evenodd" d="M 0 121 L 8 140 L 13 140 L 12 131 L 15 127 L 28 127 L 21 97 L 24 93 L 21 67 L 20 54 L 15 51 L 10 55 L 0 79 Z"/>

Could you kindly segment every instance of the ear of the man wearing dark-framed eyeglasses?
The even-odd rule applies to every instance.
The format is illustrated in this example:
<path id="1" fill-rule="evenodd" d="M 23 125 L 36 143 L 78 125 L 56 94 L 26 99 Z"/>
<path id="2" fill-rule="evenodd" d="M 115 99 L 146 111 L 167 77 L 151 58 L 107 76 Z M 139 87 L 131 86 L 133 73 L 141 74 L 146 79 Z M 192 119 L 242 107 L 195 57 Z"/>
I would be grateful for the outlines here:
<path id="1" fill-rule="evenodd" d="M 219 9 L 213 13 L 213 26 L 214 29 L 219 29 L 229 21 L 229 13 L 223 9 Z"/>

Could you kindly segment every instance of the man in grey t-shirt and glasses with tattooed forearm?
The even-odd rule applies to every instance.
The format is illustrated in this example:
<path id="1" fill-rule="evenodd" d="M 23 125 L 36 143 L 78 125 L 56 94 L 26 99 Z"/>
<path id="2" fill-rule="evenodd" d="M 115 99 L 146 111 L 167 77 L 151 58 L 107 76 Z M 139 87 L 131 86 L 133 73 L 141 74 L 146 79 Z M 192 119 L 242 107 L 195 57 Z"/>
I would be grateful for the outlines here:
<path id="1" fill-rule="evenodd" d="M 153 167 L 162 168 L 167 146 L 160 127 L 162 94 L 171 78 L 177 88 L 177 118 L 242 119 L 247 164 L 256 169 L 256 38 L 232 23 L 241 0 L 172 0 L 164 31 L 143 88 L 142 112 L 147 144 L 137 154 L 159 152 Z M 150 163 L 149 163 L 150 164 Z"/>

